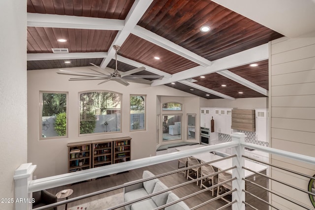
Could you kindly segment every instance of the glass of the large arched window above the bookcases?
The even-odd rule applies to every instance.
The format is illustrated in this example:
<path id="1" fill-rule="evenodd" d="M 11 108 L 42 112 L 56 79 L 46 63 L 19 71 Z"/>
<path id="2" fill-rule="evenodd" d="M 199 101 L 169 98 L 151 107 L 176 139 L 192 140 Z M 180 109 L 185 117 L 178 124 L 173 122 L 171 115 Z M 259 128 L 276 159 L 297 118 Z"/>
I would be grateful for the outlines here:
<path id="1" fill-rule="evenodd" d="M 121 132 L 121 99 L 116 92 L 81 92 L 80 134 Z"/>

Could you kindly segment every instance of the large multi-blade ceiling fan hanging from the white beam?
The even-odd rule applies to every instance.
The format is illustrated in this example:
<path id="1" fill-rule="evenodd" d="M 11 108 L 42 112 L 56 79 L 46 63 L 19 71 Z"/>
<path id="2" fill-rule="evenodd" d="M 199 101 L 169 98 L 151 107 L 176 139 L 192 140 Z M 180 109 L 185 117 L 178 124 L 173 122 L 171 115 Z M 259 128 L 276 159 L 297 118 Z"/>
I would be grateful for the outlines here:
<path id="1" fill-rule="evenodd" d="M 119 82 L 125 86 L 129 85 L 128 82 L 135 82 L 135 83 L 150 85 L 150 84 L 152 84 L 153 81 L 146 80 L 144 78 L 160 79 L 163 77 L 160 75 L 132 75 L 134 73 L 145 70 L 145 67 L 139 67 L 139 68 L 135 68 L 135 69 L 120 73 L 117 69 L 117 52 L 120 49 L 120 46 L 114 45 L 113 48 L 116 51 L 116 53 L 115 53 L 116 68 L 115 68 L 114 72 L 109 72 L 105 69 L 100 68 L 99 66 L 97 66 L 93 63 L 90 63 L 90 64 L 96 66 L 97 68 L 101 69 L 102 71 L 97 71 L 93 68 L 90 68 L 91 70 L 93 70 L 96 73 L 89 73 L 89 72 L 73 72 L 73 71 L 59 69 L 61 72 L 57 72 L 57 74 L 80 76 L 80 77 L 76 77 L 76 78 L 70 78 L 69 81 L 104 80 L 104 81 L 97 84 L 97 85 L 100 85 L 100 84 L 103 84 L 103 83 L 108 82 L 110 80 L 113 80 L 113 81 Z"/>

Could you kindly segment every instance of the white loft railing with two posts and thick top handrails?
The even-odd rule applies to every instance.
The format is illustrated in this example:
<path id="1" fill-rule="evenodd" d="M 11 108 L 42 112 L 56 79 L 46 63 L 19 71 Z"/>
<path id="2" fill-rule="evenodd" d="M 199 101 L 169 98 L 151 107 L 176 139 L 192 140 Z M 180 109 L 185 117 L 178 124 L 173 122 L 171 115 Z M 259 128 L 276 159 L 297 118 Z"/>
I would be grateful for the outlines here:
<path id="1" fill-rule="evenodd" d="M 58 186 L 63 186 L 66 184 L 71 184 L 75 182 L 80 182 L 84 180 L 91 180 L 98 177 L 103 177 L 107 175 L 112 175 L 127 170 L 137 169 L 145 166 L 155 165 L 158 163 L 163 163 L 171 160 L 178 160 L 183 157 L 196 155 L 198 153 L 210 152 L 215 150 L 221 150 L 225 148 L 232 148 L 232 169 L 233 178 L 232 181 L 232 202 L 228 205 L 232 205 L 233 210 L 245 210 L 245 170 L 247 168 L 245 165 L 244 149 L 245 147 L 260 150 L 272 154 L 281 155 L 294 160 L 303 161 L 315 165 L 315 157 L 310 157 L 302 154 L 297 154 L 293 152 L 288 152 L 284 150 L 277 150 L 272 148 L 267 148 L 263 146 L 258 146 L 250 143 L 245 143 L 245 134 L 243 133 L 233 133 L 231 135 L 232 141 L 225 142 L 217 145 L 211 145 L 206 147 L 194 148 L 190 150 L 183 150 L 178 152 L 172 152 L 164 155 L 158 155 L 153 157 L 147 157 L 137 160 L 131 160 L 124 163 L 113 164 L 104 167 L 98 167 L 93 169 L 88 169 L 79 172 L 67 173 L 58 176 L 52 176 L 37 180 L 32 180 L 32 173 L 34 172 L 36 165 L 32 163 L 22 164 L 16 171 L 14 175 L 15 180 L 15 197 L 16 199 L 21 199 L 23 202 L 15 204 L 16 210 L 31 210 L 32 209 L 32 192 L 54 188 Z M 267 176 L 266 176 L 267 177 Z M 272 179 L 272 178 L 269 178 Z M 312 193 L 312 195 L 315 195 Z M 79 196 L 80 199 L 83 196 Z M 76 198 L 74 198 L 76 199 Z M 62 201 L 58 202 L 60 205 L 64 204 Z M 211 199 L 209 199 L 210 201 Z M 75 200 L 73 200 L 75 201 Z"/>

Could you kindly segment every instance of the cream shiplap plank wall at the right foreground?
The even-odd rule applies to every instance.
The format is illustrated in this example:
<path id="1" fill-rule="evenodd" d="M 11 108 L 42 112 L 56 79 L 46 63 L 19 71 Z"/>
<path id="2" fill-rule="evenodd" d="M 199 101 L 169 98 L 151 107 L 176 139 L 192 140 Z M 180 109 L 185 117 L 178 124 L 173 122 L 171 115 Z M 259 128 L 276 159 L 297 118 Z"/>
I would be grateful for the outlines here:
<path id="1" fill-rule="evenodd" d="M 315 36 L 271 42 L 271 147 L 315 156 Z M 272 155 L 272 164 L 313 176 L 315 166 Z M 309 179 L 273 169 L 271 175 L 307 189 Z M 272 190 L 292 200 L 313 206 L 309 196 L 284 187 L 274 181 Z M 300 207 L 272 196 L 272 203 L 280 209 L 300 210 Z"/>

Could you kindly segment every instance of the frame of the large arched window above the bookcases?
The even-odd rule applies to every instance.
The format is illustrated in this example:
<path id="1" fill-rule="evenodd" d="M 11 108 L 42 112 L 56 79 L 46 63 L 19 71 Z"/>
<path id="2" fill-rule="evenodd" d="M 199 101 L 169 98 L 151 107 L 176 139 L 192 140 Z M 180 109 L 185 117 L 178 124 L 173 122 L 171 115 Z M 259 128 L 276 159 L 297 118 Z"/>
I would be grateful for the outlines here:
<path id="1" fill-rule="evenodd" d="M 87 92 L 110 92 L 120 95 L 120 130 L 119 131 L 111 131 L 111 132 L 97 132 L 97 133 L 80 133 L 80 122 L 81 122 L 81 94 Z M 110 90 L 85 90 L 78 92 L 78 136 L 96 136 L 96 135 L 107 135 L 107 134 L 114 134 L 114 133 L 122 133 L 123 132 L 123 93 L 110 91 Z M 98 119 L 96 119 L 98 120 Z"/>

